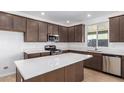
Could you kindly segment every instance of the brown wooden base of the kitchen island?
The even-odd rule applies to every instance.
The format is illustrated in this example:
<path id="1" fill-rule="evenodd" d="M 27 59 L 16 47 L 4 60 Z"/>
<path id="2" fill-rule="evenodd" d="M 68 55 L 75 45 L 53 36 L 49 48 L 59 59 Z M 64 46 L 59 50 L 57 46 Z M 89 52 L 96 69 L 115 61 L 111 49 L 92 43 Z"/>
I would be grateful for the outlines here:
<path id="1" fill-rule="evenodd" d="M 16 81 L 22 82 L 80 82 L 83 81 L 83 62 L 78 62 L 43 75 L 24 80 L 17 70 Z M 19 74 L 19 75 L 18 75 Z M 18 76 L 18 77 L 17 77 Z"/>

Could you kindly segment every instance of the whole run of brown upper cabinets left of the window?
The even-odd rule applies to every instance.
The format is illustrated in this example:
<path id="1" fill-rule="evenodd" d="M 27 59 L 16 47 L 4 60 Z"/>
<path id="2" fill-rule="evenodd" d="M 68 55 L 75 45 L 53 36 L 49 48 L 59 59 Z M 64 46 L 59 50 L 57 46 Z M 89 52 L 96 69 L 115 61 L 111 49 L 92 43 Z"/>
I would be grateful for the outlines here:
<path id="1" fill-rule="evenodd" d="M 123 26 L 120 27 L 123 30 Z M 60 42 L 85 41 L 84 25 L 64 27 L 5 12 L 0 12 L 0 29 L 24 32 L 25 42 L 46 42 L 48 35 L 59 35 Z"/>

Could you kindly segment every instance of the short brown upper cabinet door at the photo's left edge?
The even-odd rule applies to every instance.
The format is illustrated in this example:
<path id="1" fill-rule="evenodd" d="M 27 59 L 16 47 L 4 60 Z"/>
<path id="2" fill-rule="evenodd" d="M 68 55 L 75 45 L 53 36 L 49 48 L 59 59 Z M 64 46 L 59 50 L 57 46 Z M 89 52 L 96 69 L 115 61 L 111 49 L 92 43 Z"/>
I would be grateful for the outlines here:
<path id="1" fill-rule="evenodd" d="M 12 15 L 0 12 L 0 29 L 12 30 Z"/>

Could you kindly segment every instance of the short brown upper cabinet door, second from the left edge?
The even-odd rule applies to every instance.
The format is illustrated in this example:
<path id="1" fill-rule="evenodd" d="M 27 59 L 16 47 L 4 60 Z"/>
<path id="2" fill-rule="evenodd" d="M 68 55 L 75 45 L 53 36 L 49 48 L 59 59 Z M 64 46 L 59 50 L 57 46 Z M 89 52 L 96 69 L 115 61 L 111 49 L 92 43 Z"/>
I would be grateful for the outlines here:
<path id="1" fill-rule="evenodd" d="M 13 16 L 13 30 L 26 32 L 26 18 L 20 16 Z"/>

